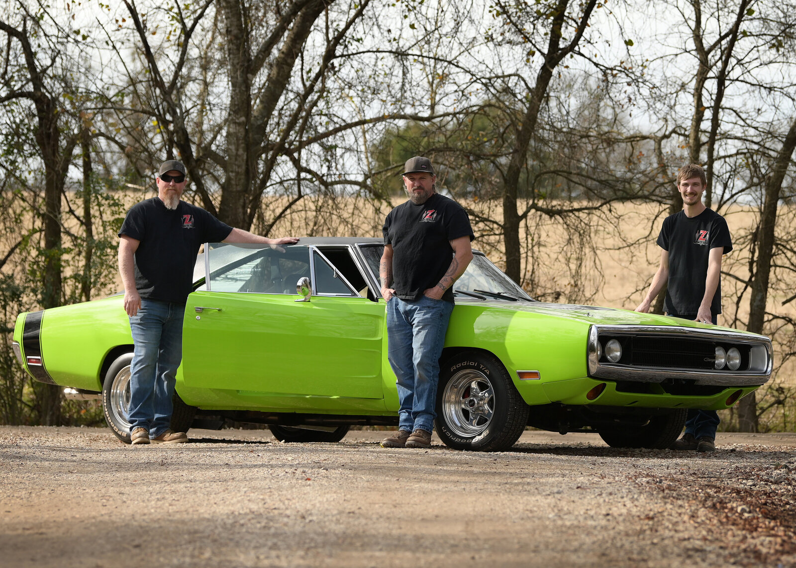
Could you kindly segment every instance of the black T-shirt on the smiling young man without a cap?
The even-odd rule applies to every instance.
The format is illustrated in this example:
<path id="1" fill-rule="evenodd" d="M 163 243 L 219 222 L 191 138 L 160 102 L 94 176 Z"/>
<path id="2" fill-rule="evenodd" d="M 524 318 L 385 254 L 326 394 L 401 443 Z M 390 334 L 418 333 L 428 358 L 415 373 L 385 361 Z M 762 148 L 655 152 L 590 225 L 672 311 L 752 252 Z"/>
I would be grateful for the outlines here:
<path id="1" fill-rule="evenodd" d="M 727 221 L 712 209 L 705 209 L 696 217 L 680 211 L 665 218 L 657 244 L 669 251 L 666 313 L 696 314 L 704 297 L 711 249 L 724 247 L 724 255 L 732 251 Z M 710 311 L 714 316 L 721 313 L 721 281 Z"/>

